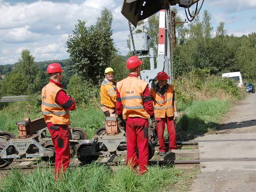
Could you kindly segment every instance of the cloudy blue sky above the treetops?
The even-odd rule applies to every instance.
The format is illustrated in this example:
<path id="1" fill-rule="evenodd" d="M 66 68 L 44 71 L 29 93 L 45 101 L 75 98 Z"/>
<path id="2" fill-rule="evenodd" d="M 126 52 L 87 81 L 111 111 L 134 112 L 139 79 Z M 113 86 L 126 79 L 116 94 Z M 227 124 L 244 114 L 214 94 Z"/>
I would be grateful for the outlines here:
<path id="1" fill-rule="evenodd" d="M 121 5 L 122 0 L 0 0 L 0 64 L 17 62 L 22 49 L 30 50 L 36 61 L 68 58 L 66 41 L 77 20 L 94 25 L 104 7 L 112 11 L 112 38 L 125 55 L 129 28 Z M 212 15 L 214 31 L 224 21 L 229 35 L 256 32 L 256 0 L 205 0 L 200 13 L 205 9 Z M 185 19 L 184 8 L 178 10 Z"/>

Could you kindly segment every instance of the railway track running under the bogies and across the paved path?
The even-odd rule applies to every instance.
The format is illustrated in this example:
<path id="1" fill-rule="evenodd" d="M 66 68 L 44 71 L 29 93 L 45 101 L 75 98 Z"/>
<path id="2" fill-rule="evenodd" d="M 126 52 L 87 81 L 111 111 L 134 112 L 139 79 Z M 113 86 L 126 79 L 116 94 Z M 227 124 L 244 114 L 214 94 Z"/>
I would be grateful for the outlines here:
<path id="1" fill-rule="evenodd" d="M 237 142 L 237 141 L 256 141 L 256 140 L 202 140 L 202 141 L 178 141 L 178 146 L 191 146 L 191 145 L 198 145 L 198 143 L 201 142 Z M 166 145 L 168 145 L 168 142 L 165 142 Z M 125 144 L 124 144 L 125 145 Z M 157 150 L 156 145 L 155 149 Z M 116 161 L 115 155 L 109 156 L 109 157 L 103 157 L 106 158 L 105 162 L 97 162 L 99 164 L 106 164 L 108 166 L 118 166 L 118 165 L 125 165 L 125 162 Z M 194 168 L 196 165 L 202 163 L 202 162 L 223 162 L 223 161 L 256 161 L 256 158 L 219 158 L 219 159 L 191 159 L 191 160 L 153 160 L 149 161 L 149 165 L 164 165 L 164 166 L 175 166 L 180 169 L 191 169 Z M 24 163 L 25 162 L 25 163 Z M 43 168 L 43 167 L 49 167 L 53 166 L 54 164 L 37 164 L 38 161 L 35 161 L 33 158 L 31 160 L 26 159 L 26 161 L 22 161 L 20 164 L 12 165 L 5 167 L 3 169 L 0 169 L 0 173 L 8 172 L 12 169 L 22 169 L 24 172 L 32 171 L 34 168 Z M 27 163 L 26 163 L 27 162 Z M 73 158 L 71 163 L 71 166 L 82 166 L 82 164 L 76 159 Z"/>

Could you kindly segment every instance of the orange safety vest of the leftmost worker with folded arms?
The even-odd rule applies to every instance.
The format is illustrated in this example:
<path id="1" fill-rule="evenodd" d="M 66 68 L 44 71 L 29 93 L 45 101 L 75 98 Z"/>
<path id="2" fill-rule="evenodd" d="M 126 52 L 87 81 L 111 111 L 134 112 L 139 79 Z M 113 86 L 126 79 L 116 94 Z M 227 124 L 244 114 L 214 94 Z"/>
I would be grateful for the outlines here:
<path id="1" fill-rule="evenodd" d="M 61 90 L 64 91 L 52 82 L 49 82 L 42 89 L 42 113 L 46 123 L 70 124 L 69 111 L 56 103 L 56 95 Z"/>

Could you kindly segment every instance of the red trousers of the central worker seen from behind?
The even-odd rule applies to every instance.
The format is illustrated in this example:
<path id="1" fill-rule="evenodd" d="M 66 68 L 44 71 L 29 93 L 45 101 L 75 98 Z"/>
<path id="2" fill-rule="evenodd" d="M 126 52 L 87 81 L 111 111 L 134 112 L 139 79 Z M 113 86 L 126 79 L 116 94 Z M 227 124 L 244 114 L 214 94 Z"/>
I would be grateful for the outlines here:
<path id="1" fill-rule="evenodd" d="M 126 121 L 127 157 L 126 164 L 139 172 L 146 172 L 148 166 L 148 120 L 140 117 L 128 117 Z M 137 157 L 139 150 L 139 159 Z"/>

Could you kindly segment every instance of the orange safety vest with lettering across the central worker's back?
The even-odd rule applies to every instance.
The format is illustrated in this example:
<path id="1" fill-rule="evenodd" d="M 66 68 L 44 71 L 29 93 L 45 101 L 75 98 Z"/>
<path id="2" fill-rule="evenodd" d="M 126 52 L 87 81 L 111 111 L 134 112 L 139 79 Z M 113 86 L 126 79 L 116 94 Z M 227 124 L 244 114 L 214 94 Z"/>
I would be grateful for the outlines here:
<path id="1" fill-rule="evenodd" d="M 128 76 L 116 84 L 123 104 L 123 118 L 141 117 L 148 119 L 150 116 L 143 106 L 143 92 L 147 83 L 138 77 Z"/>

